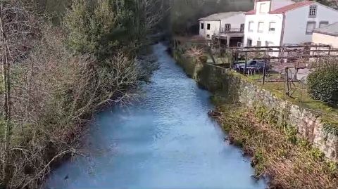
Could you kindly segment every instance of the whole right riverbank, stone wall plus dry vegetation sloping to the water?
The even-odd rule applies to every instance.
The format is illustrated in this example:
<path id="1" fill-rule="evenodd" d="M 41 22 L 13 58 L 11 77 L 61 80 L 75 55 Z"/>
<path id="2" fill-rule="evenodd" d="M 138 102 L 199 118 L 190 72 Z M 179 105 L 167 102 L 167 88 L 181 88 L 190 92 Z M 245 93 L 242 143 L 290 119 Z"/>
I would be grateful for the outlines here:
<path id="1" fill-rule="evenodd" d="M 337 136 L 323 129 L 317 115 L 240 74 L 181 52 L 174 52 L 174 57 L 200 86 L 213 93 L 212 101 L 218 107 L 211 115 L 229 133 L 231 143 L 252 157 L 256 176 L 270 178 L 270 188 L 337 186 Z"/>

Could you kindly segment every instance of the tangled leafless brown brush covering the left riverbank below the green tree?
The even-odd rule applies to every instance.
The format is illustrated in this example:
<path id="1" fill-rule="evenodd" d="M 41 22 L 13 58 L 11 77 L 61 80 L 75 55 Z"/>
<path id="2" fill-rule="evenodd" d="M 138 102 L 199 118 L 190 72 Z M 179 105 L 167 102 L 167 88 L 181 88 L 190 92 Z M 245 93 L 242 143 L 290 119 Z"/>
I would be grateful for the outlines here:
<path id="1" fill-rule="evenodd" d="M 127 103 L 134 95 L 128 89 L 143 77 L 139 63 L 122 52 L 105 62 L 90 55 L 74 56 L 63 46 L 64 34 L 57 29 L 44 28 L 27 58 L 11 67 L 6 188 L 39 188 L 64 157 L 82 154 L 79 138 L 87 132 L 91 115 L 106 105 Z M 3 159 L 2 155 L 0 167 Z"/>

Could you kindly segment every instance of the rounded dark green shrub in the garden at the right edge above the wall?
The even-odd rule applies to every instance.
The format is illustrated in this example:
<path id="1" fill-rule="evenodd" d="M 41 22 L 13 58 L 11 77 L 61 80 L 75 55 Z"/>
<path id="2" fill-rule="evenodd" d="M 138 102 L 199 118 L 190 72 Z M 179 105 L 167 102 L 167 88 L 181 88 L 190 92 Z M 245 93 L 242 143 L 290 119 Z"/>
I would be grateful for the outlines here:
<path id="1" fill-rule="evenodd" d="M 329 105 L 338 103 L 338 63 L 325 60 L 314 72 L 308 75 L 308 93 L 315 100 Z"/>

